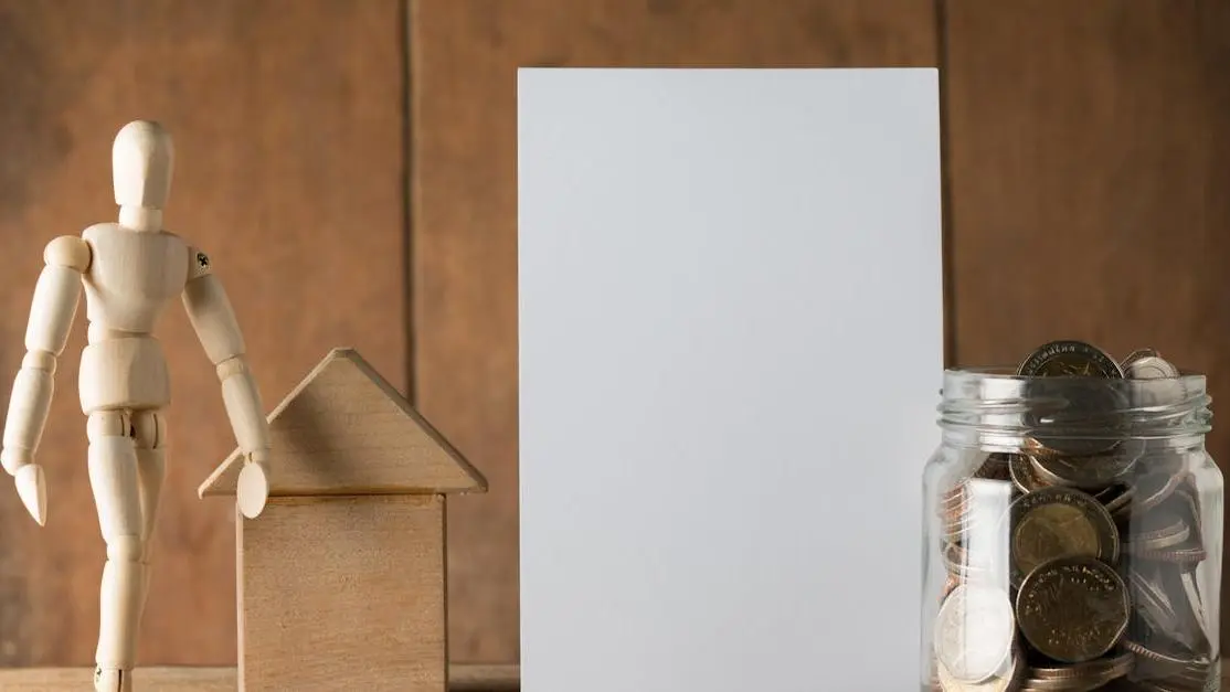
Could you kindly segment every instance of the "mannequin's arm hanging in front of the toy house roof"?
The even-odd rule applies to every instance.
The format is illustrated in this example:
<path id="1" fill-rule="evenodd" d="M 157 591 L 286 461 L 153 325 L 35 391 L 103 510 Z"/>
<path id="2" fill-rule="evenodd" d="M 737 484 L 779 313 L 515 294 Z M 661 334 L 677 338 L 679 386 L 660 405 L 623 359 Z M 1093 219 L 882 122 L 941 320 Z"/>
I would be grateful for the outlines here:
<path id="1" fill-rule="evenodd" d="M 253 519 L 269 497 L 269 424 L 226 291 L 205 253 L 189 248 L 188 261 L 192 264 L 183 289 L 183 306 L 205 355 L 218 369 L 226 415 L 244 452 L 236 500 L 244 516 Z"/>

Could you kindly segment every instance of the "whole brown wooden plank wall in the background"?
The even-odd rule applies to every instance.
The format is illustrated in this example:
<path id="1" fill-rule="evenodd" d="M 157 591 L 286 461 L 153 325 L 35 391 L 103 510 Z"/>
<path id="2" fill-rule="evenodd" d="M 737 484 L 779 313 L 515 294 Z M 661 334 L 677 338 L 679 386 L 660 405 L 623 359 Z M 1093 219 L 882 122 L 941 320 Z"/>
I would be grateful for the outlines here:
<path id="1" fill-rule="evenodd" d="M 519 65 L 940 66 L 950 364 L 1155 345 L 1230 398 L 1218 0 L 0 0 L 2 399 L 43 243 L 114 216 L 112 136 L 164 120 L 169 227 L 213 254 L 266 403 L 354 345 L 488 476 L 450 508 L 451 650 L 515 661 Z M 162 337 L 173 447 L 141 660 L 228 664 L 230 509 L 193 492 L 231 435 L 178 311 Z M 73 339 L 48 526 L 0 488 L 0 665 L 93 656 Z M 1210 447 L 1230 461 L 1230 427 Z"/>

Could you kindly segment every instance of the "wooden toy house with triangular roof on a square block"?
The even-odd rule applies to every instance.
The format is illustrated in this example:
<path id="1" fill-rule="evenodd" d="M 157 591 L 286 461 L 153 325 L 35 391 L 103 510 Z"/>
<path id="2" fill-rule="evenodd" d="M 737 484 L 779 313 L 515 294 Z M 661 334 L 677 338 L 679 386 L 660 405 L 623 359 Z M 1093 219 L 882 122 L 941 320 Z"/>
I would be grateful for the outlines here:
<path id="1" fill-rule="evenodd" d="M 264 513 L 236 510 L 239 688 L 444 692 L 445 497 L 487 483 L 335 349 L 269 414 Z M 232 452 L 199 494 L 231 495 Z"/>

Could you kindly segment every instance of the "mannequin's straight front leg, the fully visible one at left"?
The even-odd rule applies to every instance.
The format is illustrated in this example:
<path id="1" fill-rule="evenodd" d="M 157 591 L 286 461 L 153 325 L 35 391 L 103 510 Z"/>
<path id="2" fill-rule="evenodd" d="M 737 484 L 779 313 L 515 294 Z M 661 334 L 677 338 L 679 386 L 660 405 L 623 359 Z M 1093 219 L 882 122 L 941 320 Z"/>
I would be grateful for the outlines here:
<path id="1" fill-rule="evenodd" d="M 140 616 L 141 506 L 137 450 L 127 413 L 93 412 L 90 438 L 90 487 L 98 526 L 107 542 L 98 612 L 97 692 L 129 692 Z"/>

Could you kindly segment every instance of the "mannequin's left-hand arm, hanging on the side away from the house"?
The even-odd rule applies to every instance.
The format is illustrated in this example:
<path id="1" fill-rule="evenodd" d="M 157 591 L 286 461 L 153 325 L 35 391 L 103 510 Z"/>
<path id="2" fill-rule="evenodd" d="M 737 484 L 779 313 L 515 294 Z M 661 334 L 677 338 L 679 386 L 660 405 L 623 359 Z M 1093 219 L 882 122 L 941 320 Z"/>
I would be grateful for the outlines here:
<path id="1" fill-rule="evenodd" d="M 75 236 L 47 243 L 42 274 L 26 326 L 26 358 L 12 383 L 0 463 L 14 477 L 17 495 L 39 526 L 47 521 L 47 484 L 34 463 L 54 393 L 55 365 L 68 343 L 81 300 L 81 274 L 90 268 L 90 246 Z"/>

